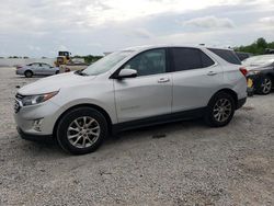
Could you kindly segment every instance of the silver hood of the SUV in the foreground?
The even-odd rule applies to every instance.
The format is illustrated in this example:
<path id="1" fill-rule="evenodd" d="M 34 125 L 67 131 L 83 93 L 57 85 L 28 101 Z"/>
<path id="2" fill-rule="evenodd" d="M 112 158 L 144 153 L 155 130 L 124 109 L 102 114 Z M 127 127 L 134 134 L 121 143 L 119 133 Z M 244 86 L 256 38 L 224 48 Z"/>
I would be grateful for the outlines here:
<path id="1" fill-rule="evenodd" d="M 61 73 L 24 85 L 18 92 L 22 95 L 43 94 L 58 91 L 61 88 L 85 84 L 92 79 L 95 79 L 95 76 L 79 76 L 75 72 Z"/>

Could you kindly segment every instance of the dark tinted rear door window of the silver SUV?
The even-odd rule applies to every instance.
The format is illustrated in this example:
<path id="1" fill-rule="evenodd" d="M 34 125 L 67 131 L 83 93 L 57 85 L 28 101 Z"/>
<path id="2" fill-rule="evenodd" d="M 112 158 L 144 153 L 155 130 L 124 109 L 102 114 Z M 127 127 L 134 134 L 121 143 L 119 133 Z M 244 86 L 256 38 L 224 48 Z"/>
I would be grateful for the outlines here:
<path id="1" fill-rule="evenodd" d="M 215 62 L 197 48 L 175 47 L 171 49 L 175 71 L 210 67 Z"/>

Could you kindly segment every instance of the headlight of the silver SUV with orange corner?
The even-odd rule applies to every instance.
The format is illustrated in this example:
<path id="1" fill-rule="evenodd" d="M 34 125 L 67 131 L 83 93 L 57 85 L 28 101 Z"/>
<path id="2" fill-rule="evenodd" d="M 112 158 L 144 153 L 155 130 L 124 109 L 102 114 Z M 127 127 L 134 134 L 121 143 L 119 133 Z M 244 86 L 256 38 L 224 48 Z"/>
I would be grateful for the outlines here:
<path id="1" fill-rule="evenodd" d="M 58 91 L 46 94 L 26 95 L 21 100 L 21 102 L 23 106 L 35 105 L 54 98 L 57 93 Z"/>

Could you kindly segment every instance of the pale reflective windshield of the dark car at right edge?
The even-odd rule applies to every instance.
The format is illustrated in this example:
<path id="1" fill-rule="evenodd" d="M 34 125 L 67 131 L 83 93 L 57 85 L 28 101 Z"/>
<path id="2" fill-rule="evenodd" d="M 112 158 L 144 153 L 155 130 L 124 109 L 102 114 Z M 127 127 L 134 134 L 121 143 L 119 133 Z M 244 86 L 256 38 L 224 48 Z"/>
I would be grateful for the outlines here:
<path id="1" fill-rule="evenodd" d="M 248 67 L 263 67 L 274 62 L 274 55 L 254 56 L 242 61 Z"/>

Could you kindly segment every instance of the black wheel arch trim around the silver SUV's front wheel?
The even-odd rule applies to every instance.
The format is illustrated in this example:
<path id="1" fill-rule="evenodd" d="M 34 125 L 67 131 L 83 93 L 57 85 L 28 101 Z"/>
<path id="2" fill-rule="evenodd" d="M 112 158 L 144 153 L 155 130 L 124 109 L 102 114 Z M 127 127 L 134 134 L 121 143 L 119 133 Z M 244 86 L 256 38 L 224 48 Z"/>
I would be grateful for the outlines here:
<path id="1" fill-rule="evenodd" d="M 91 107 L 91 108 L 94 108 L 98 112 L 100 112 L 106 119 L 106 123 L 107 123 L 107 130 L 109 133 L 112 133 L 112 119 L 109 115 L 109 113 L 102 108 L 101 106 L 99 105 L 95 105 L 95 104 L 91 104 L 91 103 L 84 103 L 84 104 L 77 104 L 77 105 L 73 105 L 69 108 L 67 108 L 66 111 L 64 111 L 59 117 L 57 118 L 57 121 L 55 122 L 55 125 L 54 125 L 54 136 L 56 137 L 56 131 L 57 131 L 57 127 L 58 127 L 58 124 L 60 123 L 61 118 L 68 113 L 70 112 L 71 110 L 75 110 L 75 108 L 79 108 L 79 107 Z"/>

